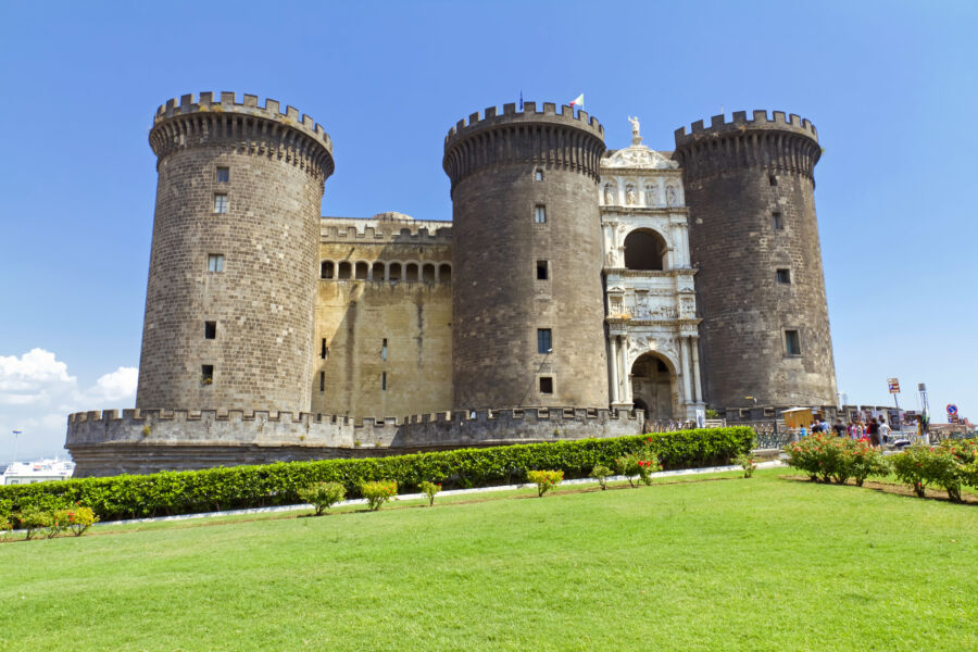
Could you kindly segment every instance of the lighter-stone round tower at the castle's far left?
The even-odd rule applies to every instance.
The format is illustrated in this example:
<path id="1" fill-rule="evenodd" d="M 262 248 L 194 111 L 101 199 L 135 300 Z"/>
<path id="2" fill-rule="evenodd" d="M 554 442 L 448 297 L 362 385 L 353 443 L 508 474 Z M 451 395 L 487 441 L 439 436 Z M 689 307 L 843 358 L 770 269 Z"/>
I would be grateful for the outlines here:
<path id="1" fill-rule="evenodd" d="M 156 210 L 142 409 L 308 411 L 329 137 L 255 96 L 190 95 L 150 131 Z"/>

